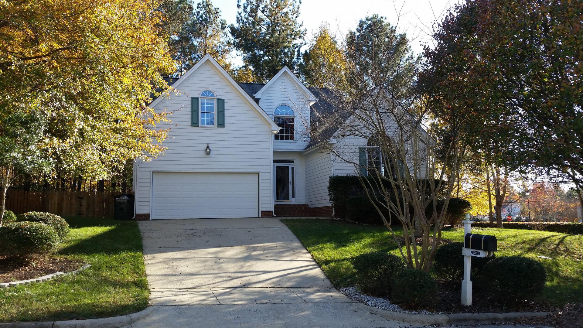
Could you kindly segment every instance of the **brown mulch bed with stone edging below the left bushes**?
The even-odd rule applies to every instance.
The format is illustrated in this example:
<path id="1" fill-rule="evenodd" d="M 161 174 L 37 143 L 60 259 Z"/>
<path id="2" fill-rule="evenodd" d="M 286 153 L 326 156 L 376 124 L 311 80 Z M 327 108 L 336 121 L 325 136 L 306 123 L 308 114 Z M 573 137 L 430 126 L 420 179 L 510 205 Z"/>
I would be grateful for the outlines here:
<path id="1" fill-rule="evenodd" d="M 76 261 L 51 255 L 27 261 L 10 261 L 0 257 L 0 283 L 34 279 L 55 272 L 69 272 L 79 268 Z"/>

